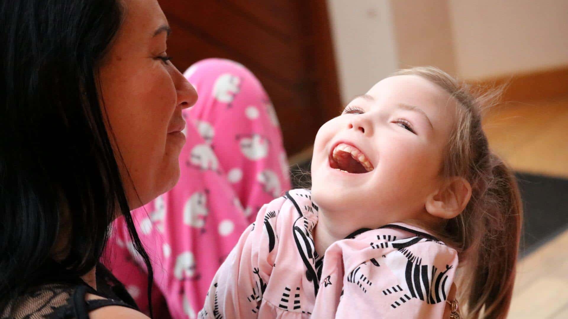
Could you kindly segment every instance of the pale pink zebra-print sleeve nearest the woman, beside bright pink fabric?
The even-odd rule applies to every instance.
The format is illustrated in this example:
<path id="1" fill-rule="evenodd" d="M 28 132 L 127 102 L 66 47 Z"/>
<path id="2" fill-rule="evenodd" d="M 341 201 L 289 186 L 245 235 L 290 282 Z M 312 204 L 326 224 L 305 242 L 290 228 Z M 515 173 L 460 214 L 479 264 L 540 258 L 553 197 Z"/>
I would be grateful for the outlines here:
<path id="1" fill-rule="evenodd" d="M 278 215 L 285 198 L 263 205 L 256 221 L 239 238 L 211 282 L 199 318 L 256 318 L 277 252 L 278 238 L 269 219 Z M 268 230 L 270 229 L 270 230 Z"/>

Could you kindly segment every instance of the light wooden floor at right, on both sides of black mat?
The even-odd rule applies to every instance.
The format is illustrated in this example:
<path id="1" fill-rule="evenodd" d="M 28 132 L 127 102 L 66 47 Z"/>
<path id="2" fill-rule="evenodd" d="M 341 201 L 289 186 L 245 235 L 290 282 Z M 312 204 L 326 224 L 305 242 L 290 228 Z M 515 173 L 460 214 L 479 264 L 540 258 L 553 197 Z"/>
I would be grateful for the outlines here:
<path id="1" fill-rule="evenodd" d="M 517 171 L 568 178 L 566 101 L 496 107 L 491 148 Z M 568 318 L 568 230 L 520 261 L 509 318 Z"/>

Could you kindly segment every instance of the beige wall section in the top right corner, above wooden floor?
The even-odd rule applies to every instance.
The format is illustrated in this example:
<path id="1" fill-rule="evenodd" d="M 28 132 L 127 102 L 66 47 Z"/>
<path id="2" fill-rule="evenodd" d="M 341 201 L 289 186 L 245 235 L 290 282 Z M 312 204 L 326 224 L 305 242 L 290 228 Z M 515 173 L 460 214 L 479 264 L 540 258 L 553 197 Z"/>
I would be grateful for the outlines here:
<path id="1" fill-rule="evenodd" d="M 567 0 L 451 0 L 449 8 L 463 78 L 568 65 Z"/>

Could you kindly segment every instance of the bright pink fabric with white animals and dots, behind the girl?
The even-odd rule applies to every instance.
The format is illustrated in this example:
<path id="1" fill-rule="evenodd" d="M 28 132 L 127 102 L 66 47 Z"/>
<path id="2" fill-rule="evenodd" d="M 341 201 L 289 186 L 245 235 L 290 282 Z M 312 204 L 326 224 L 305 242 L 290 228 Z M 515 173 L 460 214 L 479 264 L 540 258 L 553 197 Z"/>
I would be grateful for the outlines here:
<path id="1" fill-rule="evenodd" d="M 207 59 L 185 75 L 199 99 L 183 111 L 181 178 L 132 211 L 152 259 L 156 318 L 195 318 L 216 270 L 254 214 L 290 188 L 278 120 L 252 73 L 232 61 Z M 147 273 L 127 234 L 124 220 L 116 220 L 108 267 L 148 312 Z"/>

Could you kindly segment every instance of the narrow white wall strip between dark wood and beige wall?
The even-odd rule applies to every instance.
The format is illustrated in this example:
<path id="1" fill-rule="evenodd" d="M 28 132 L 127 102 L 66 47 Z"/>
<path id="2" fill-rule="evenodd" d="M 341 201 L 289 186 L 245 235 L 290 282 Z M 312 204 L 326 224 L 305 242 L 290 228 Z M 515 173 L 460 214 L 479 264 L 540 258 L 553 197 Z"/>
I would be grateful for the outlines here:
<path id="1" fill-rule="evenodd" d="M 398 68 L 387 0 L 328 0 L 341 98 L 364 94 Z"/>

